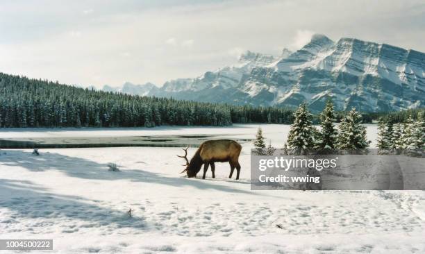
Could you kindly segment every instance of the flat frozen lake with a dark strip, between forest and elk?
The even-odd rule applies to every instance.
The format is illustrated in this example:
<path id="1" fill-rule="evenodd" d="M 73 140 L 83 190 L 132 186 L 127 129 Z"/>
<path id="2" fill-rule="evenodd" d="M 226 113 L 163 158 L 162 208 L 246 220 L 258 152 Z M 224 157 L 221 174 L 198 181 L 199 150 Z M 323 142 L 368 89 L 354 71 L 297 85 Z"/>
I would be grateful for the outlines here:
<path id="1" fill-rule="evenodd" d="M 112 146 L 198 146 L 208 139 L 251 142 L 263 128 L 267 142 L 277 148 L 286 142 L 290 126 L 279 124 L 234 124 L 226 127 L 162 126 L 156 128 L 24 128 L 0 130 L 3 148 L 78 148 Z M 376 125 L 367 125 L 367 138 L 376 146 Z"/>

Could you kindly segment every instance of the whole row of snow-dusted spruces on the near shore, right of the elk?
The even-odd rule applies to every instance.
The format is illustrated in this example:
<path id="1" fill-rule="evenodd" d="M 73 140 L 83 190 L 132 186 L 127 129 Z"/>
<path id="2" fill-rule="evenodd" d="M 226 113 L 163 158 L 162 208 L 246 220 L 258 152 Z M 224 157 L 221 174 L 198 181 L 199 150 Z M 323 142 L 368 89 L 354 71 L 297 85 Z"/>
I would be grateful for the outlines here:
<path id="1" fill-rule="evenodd" d="M 283 147 L 286 154 L 335 153 L 336 150 L 365 151 L 370 141 L 366 137 L 362 115 L 352 108 L 335 126 L 335 111 L 331 100 L 319 114 L 320 128 L 313 126 L 313 116 L 305 103 L 294 112 L 288 142 Z M 406 153 L 423 156 L 425 149 L 425 115 L 423 109 L 405 110 L 384 115 L 378 123 L 377 146 L 380 153 Z M 266 147 L 263 131 L 258 128 L 254 153 L 273 155 L 271 144 Z"/>

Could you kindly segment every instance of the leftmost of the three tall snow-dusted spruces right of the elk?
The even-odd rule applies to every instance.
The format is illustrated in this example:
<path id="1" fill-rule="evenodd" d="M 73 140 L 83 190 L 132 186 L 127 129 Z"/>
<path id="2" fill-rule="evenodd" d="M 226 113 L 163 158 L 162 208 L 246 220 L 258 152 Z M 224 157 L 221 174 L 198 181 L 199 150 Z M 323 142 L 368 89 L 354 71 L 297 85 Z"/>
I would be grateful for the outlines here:
<path id="1" fill-rule="evenodd" d="M 306 103 L 299 105 L 297 111 L 294 112 L 294 118 L 294 124 L 288 135 L 288 146 L 295 154 L 306 154 L 315 145 L 315 128 Z"/>

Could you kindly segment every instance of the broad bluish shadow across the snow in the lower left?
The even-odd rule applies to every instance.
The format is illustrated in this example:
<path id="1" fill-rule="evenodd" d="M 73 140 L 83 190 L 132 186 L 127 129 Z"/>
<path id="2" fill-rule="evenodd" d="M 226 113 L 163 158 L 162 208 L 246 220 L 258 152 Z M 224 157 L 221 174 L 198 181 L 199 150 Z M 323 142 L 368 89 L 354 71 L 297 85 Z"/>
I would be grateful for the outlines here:
<path id="1" fill-rule="evenodd" d="M 51 194 L 48 189 L 26 180 L 0 179 L 0 208 L 10 210 L 0 219 L 3 228 L 31 219 L 24 231 L 33 232 L 54 227 L 60 219 L 63 232 L 76 232 L 75 219 L 82 221 L 82 228 L 106 226 L 109 228 L 140 228 L 147 226 L 143 217 L 128 217 L 126 211 L 113 210 L 101 205 L 101 201 L 90 201 L 78 196 Z M 45 218 L 47 221 L 37 221 Z M 51 220 L 49 220 L 51 219 Z M 2 225 L 3 224 L 3 225 Z"/>

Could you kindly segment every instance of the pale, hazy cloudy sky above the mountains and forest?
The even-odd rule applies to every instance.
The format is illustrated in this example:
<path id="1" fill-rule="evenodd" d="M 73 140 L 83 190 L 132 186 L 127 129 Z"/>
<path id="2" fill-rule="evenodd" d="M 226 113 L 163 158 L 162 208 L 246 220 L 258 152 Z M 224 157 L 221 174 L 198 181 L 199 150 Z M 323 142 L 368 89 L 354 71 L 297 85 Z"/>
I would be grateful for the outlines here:
<path id="1" fill-rule="evenodd" d="M 158 86 L 297 50 L 311 35 L 425 52 L 423 0 L 2 0 L 0 72 L 102 87 Z"/>

